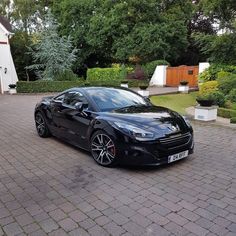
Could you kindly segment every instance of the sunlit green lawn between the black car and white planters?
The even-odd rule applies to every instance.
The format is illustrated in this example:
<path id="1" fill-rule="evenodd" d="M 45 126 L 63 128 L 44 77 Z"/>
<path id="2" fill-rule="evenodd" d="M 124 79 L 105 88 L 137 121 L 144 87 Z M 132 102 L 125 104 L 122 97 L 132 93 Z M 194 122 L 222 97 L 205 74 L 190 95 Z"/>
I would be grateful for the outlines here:
<path id="1" fill-rule="evenodd" d="M 169 94 L 152 96 L 151 101 L 156 106 L 168 107 L 180 114 L 185 114 L 185 108 L 196 104 L 196 96 L 198 92 L 189 94 Z"/>

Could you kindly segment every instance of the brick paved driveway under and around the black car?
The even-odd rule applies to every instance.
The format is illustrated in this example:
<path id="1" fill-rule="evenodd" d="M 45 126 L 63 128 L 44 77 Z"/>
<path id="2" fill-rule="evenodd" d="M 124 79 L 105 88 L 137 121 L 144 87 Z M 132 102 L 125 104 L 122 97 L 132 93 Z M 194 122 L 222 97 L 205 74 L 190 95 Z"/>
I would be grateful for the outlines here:
<path id="1" fill-rule="evenodd" d="M 33 122 L 39 96 L 0 96 L 0 235 L 236 235 L 236 130 L 195 124 L 191 158 L 102 168 Z"/>

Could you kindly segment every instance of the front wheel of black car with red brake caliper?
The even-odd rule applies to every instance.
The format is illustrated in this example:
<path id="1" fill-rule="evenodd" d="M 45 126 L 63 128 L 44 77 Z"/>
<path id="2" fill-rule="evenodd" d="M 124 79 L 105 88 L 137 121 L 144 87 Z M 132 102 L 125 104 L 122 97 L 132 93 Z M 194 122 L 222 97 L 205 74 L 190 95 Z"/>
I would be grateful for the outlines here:
<path id="1" fill-rule="evenodd" d="M 117 163 L 117 150 L 113 139 L 104 131 L 92 135 L 90 149 L 93 159 L 102 166 L 111 167 Z"/>

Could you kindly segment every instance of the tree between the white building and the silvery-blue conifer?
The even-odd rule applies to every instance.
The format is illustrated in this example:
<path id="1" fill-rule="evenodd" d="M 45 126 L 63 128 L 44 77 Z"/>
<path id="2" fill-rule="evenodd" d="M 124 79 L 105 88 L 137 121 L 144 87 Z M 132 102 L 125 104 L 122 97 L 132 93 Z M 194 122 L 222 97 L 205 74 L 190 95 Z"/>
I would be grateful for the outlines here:
<path id="1" fill-rule="evenodd" d="M 1 0 L 0 15 L 5 16 L 13 26 L 15 35 L 11 38 L 11 51 L 18 78 L 34 80 L 34 73 L 25 67 L 32 61 L 26 54 L 34 34 L 42 27 L 45 13 L 53 0 Z M 29 74 L 28 74 L 29 73 Z"/>

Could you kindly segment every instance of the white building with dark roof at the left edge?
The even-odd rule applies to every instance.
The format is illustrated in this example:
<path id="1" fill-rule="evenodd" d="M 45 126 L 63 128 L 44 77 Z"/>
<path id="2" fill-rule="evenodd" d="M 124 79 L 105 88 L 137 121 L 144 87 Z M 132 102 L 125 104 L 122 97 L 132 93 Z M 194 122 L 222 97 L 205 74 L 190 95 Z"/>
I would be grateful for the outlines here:
<path id="1" fill-rule="evenodd" d="M 9 84 L 18 81 L 9 43 L 12 35 L 10 23 L 0 16 L 0 94 L 8 91 Z"/>

